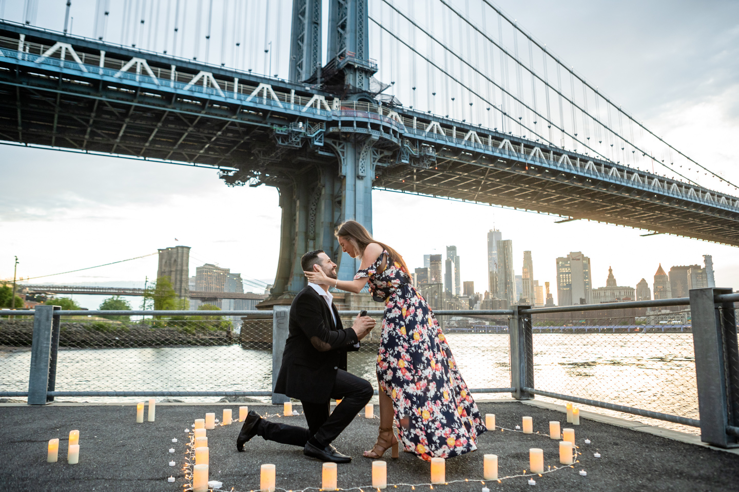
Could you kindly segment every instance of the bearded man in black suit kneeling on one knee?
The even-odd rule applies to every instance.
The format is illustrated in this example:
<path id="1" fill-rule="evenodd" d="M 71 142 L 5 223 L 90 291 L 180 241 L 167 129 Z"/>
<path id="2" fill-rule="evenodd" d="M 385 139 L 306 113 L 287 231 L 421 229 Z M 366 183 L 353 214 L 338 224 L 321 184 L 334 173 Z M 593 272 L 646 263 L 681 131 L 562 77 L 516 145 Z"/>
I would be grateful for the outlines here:
<path id="1" fill-rule="evenodd" d="M 336 279 L 336 263 L 321 250 L 307 252 L 300 263 L 303 271 L 322 270 Z M 357 316 L 351 328 L 344 328 L 328 291 L 330 286 L 308 283 L 293 299 L 290 332 L 274 389 L 301 401 L 308 429 L 270 422 L 252 411 L 236 440 L 239 451 L 244 451 L 244 443 L 256 435 L 302 446 L 303 454 L 321 461 L 352 460 L 331 443 L 372 398 L 369 381 L 347 373 L 347 352 L 359 350 L 359 341 L 375 327 L 375 320 Z M 331 398 L 341 398 L 333 413 Z"/>

